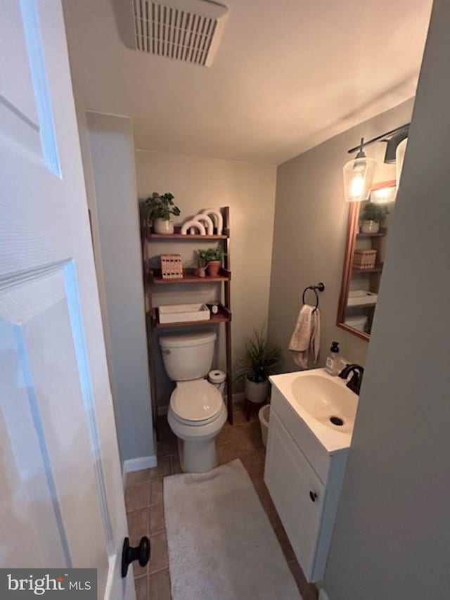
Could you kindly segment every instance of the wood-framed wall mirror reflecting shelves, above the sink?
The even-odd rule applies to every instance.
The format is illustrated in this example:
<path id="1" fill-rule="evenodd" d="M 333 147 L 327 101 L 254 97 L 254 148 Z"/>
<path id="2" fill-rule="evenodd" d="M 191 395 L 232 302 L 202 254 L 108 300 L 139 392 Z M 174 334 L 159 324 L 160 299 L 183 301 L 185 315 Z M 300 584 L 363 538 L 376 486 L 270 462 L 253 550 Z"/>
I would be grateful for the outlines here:
<path id="1" fill-rule="evenodd" d="M 396 192 L 395 180 L 383 181 L 368 200 L 349 205 L 337 325 L 364 340 L 371 337 Z"/>

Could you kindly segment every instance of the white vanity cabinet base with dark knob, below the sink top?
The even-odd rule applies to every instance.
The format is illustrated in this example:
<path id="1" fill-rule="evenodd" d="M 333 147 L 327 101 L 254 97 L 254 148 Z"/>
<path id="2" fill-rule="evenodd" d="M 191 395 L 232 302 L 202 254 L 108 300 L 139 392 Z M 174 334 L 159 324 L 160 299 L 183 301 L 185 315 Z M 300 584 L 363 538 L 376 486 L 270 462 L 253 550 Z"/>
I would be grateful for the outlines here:
<path id="1" fill-rule="evenodd" d="M 308 581 L 320 581 L 338 508 L 347 449 L 330 454 L 272 388 L 264 480 Z"/>

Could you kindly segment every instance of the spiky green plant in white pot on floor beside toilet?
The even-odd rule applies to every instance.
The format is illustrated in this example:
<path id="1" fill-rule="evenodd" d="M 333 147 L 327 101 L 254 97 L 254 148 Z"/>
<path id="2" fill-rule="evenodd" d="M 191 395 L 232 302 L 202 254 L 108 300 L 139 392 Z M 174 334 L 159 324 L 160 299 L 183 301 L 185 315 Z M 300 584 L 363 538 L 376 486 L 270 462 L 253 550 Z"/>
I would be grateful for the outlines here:
<path id="1" fill-rule="evenodd" d="M 266 328 L 253 332 L 245 340 L 243 352 L 236 361 L 236 380 L 244 377 L 245 399 L 255 404 L 265 402 L 269 395 L 269 375 L 276 373 L 281 348 L 266 338 Z"/>

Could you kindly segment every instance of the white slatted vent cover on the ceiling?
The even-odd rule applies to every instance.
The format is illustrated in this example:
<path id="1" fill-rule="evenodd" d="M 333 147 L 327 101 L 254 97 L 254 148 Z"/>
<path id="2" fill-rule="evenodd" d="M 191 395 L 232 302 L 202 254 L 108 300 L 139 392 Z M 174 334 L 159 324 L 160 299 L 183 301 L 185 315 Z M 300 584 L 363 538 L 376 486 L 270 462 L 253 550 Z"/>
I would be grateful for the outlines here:
<path id="1" fill-rule="evenodd" d="M 210 67 L 228 9 L 205 0 L 132 0 L 136 50 Z"/>

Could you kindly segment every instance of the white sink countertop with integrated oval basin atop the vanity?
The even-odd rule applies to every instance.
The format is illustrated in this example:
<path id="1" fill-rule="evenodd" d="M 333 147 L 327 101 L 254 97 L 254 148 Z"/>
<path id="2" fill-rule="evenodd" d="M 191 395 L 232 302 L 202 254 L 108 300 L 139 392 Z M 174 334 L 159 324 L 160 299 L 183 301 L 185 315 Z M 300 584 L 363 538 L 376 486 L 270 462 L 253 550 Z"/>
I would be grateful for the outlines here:
<path id="1" fill-rule="evenodd" d="M 347 388 L 347 381 L 325 369 L 274 375 L 270 380 L 328 452 L 350 446 L 359 397 Z"/>

